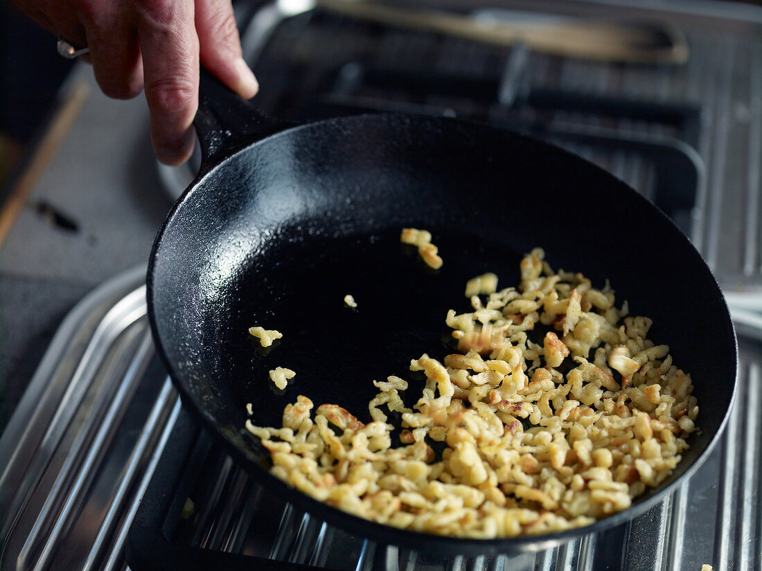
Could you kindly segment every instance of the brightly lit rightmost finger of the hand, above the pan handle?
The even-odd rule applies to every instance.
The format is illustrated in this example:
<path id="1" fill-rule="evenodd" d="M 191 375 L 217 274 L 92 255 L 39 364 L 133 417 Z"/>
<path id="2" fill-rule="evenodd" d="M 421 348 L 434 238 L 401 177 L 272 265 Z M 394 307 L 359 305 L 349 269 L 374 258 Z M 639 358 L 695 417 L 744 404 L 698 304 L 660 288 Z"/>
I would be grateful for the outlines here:
<path id="1" fill-rule="evenodd" d="M 242 57 L 230 0 L 197 0 L 196 30 L 201 64 L 244 99 L 254 97 L 259 84 Z"/>

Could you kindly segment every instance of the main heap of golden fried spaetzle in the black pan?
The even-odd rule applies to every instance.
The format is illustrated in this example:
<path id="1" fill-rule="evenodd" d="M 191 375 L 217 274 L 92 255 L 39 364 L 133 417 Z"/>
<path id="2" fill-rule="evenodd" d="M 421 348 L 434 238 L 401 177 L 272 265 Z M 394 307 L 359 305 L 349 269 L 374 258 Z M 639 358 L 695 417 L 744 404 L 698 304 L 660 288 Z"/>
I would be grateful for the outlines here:
<path id="1" fill-rule="evenodd" d="M 363 518 L 469 538 L 588 525 L 658 486 L 696 429 L 690 376 L 608 284 L 554 272 L 540 249 L 520 271 L 447 313 L 458 352 L 411 361 L 426 379 L 412 407 L 416 381 L 390 376 L 373 381 L 370 423 L 302 395 L 280 428 L 247 421 L 272 474 Z"/>

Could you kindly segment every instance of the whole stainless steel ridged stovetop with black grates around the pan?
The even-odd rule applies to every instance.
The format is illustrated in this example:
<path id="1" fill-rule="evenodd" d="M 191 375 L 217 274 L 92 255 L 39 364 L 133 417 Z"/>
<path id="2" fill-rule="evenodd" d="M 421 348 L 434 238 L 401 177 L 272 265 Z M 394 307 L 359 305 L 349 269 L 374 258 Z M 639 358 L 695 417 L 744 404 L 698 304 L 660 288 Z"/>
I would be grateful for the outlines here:
<path id="1" fill-rule="evenodd" d="M 568 6 L 559 9 L 588 10 Z M 260 100 L 271 113 L 299 119 L 414 110 L 533 132 L 653 199 L 687 232 L 725 291 L 762 295 L 762 16 L 598 8 L 674 21 L 690 40 L 689 62 L 670 68 L 559 59 L 331 14 L 289 15 L 277 5 L 254 14 L 245 45 L 262 85 L 277 86 Z M 398 75 L 402 85 L 391 85 L 392 64 L 400 61 L 408 69 Z M 436 74 L 421 70 L 469 90 L 443 90 Z M 506 99 L 509 92 L 523 97 Z M 586 107 L 590 100 L 596 105 Z M 173 193 L 184 177 L 164 172 Z M 174 568 L 181 560 L 171 558 L 189 547 L 327 569 L 762 568 L 762 345 L 745 334 L 752 328 L 739 328 L 738 398 L 721 445 L 655 509 L 552 550 L 445 560 L 315 521 L 216 450 L 155 356 L 144 275 L 141 267 L 107 282 L 69 314 L 0 439 L 4 571 L 125 569 L 127 544 L 136 571 Z M 168 489 L 158 485 L 166 481 L 173 482 Z M 166 500 L 158 522 L 148 522 L 155 514 L 145 498 Z M 130 543 L 136 519 L 156 541 Z"/>

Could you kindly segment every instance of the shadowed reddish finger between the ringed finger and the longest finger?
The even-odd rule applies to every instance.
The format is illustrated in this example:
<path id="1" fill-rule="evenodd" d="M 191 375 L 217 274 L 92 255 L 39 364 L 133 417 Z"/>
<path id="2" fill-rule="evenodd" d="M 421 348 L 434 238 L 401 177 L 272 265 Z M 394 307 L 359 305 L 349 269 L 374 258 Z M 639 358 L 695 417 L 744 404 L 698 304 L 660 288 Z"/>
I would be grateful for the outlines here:
<path id="1" fill-rule="evenodd" d="M 129 99 L 142 91 L 142 62 L 137 29 L 123 2 L 98 2 L 85 6 L 80 18 L 85 24 L 90 61 L 95 79 L 109 97 Z"/>

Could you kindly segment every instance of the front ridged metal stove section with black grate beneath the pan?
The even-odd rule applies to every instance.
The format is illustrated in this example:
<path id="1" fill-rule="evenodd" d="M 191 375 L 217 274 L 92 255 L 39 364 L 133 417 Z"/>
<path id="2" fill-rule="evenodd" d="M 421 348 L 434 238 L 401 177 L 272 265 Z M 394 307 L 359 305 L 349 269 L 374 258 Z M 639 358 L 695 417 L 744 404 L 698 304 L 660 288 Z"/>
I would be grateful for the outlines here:
<path id="1" fill-rule="evenodd" d="M 756 557 L 736 538 L 756 537 L 762 507 L 758 362 L 741 369 L 719 447 L 645 515 L 538 553 L 446 559 L 317 521 L 213 445 L 155 355 L 144 272 L 72 311 L 0 441 L 2 569 L 700 569 Z"/>

